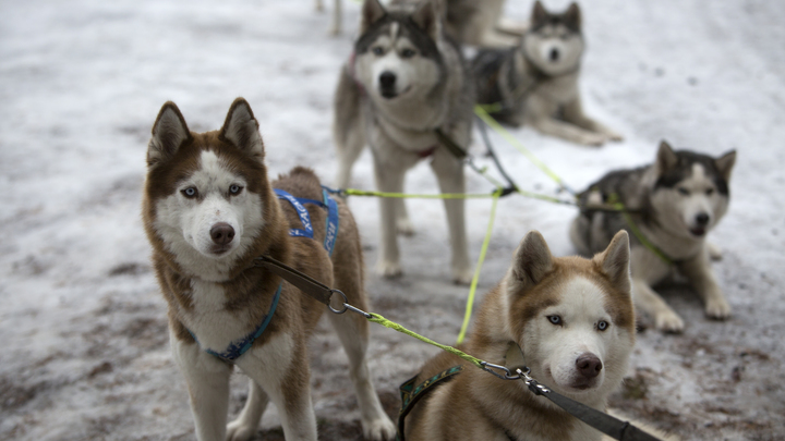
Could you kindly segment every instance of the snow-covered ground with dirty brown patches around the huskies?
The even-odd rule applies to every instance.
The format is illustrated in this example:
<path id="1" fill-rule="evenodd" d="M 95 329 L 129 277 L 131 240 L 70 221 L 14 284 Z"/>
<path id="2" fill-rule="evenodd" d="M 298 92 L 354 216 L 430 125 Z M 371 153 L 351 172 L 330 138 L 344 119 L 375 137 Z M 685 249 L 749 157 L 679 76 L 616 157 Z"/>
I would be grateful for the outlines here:
<path id="1" fill-rule="evenodd" d="M 333 88 L 359 11 L 347 3 L 347 30 L 330 38 L 328 14 L 304 0 L 0 2 L 0 439 L 193 438 L 138 215 L 149 128 L 169 99 L 192 130 L 217 128 L 244 96 L 274 173 L 305 164 L 331 182 Z M 531 3 L 515 3 L 508 15 L 526 19 Z M 725 250 L 714 267 L 735 315 L 710 321 L 687 289 L 664 289 L 687 329 L 639 335 L 613 404 L 689 440 L 783 439 L 785 2 L 592 0 L 583 13 L 587 107 L 626 140 L 587 148 L 529 128 L 514 131 L 518 139 L 576 188 L 650 162 L 661 138 L 711 155 L 738 150 L 733 204 L 711 235 Z M 493 139 L 524 188 L 554 192 Z M 354 186 L 372 188 L 370 166 L 366 152 Z M 471 192 L 491 189 L 468 175 Z M 410 173 L 410 191 L 435 187 L 427 167 Z M 372 266 L 376 201 L 350 204 Z M 468 207 L 475 258 L 490 201 Z M 402 240 L 406 275 L 369 277 L 374 310 L 451 343 L 468 289 L 449 283 L 440 204 L 415 200 L 410 211 L 418 234 Z M 554 253 L 573 253 L 573 215 L 503 199 L 480 292 L 502 277 L 530 229 Z M 373 375 L 396 412 L 398 384 L 436 350 L 382 328 L 372 338 Z M 322 438 L 359 439 L 346 358 L 328 326 L 312 350 Z M 237 414 L 245 384 L 242 376 L 233 381 Z M 270 409 L 266 439 L 281 438 L 276 427 Z"/>

